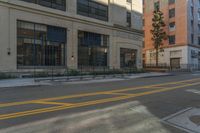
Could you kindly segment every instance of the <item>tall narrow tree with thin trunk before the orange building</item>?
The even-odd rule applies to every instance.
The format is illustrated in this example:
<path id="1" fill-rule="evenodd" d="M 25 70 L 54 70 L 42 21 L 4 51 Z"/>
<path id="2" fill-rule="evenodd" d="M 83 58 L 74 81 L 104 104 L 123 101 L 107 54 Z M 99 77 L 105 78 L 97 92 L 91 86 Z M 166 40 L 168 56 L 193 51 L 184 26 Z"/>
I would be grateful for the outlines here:
<path id="1" fill-rule="evenodd" d="M 158 67 L 159 49 L 163 45 L 163 41 L 167 39 L 167 34 L 164 31 L 164 27 L 166 26 L 164 16 L 159 9 L 153 12 L 152 22 L 151 40 L 154 42 L 154 48 L 156 49 L 156 66 Z"/>

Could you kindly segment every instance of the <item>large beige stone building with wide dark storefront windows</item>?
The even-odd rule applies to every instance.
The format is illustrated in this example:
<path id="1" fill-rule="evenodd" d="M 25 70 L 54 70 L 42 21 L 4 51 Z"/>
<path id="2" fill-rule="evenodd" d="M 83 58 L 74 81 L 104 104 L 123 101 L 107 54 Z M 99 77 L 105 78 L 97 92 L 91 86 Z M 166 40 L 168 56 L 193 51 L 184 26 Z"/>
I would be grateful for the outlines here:
<path id="1" fill-rule="evenodd" d="M 141 0 L 0 0 L 0 71 L 142 67 Z"/>

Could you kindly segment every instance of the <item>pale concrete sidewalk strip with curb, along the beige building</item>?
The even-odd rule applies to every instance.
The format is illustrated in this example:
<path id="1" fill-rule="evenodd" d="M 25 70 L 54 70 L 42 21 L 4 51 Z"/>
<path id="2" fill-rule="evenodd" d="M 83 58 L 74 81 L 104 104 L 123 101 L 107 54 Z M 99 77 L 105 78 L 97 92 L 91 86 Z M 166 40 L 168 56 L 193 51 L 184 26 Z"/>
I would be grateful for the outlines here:
<path id="1" fill-rule="evenodd" d="M 25 78 L 25 79 L 8 79 L 0 80 L 0 88 L 7 87 L 19 87 L 19 86 L 38 86 L 38 85 L 51 85 L 52 81 L 55 82 L 110 82 L 110 81 L 119 81 L 119 80 L 128 80 L 135 78 L 148 78 L 148 77 L 160 77 L 160 76 L 171 76 L 170 73 L 140 73 L 140 74 L 128 74 L 128 75 L 101 75 L 101 76 L 69 76 L 69 77 L 48 77 L 48 78 L 37 78 L 35 82 L 34 78 Z"/>

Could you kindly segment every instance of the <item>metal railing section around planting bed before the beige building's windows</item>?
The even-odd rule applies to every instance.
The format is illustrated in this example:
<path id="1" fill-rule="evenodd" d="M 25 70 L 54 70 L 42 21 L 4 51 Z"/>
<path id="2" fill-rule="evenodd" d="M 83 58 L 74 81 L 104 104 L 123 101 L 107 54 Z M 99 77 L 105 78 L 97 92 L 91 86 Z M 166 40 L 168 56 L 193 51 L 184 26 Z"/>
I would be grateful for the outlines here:
<path id="1" fill-rule="evenodd" d="M 41 72 L 35 70 L 35 81 L 41 80 L 75 80 L 75 79 L 88 79 L 88 78 L 107 78 L 107 77 L 124 77 L 133 73 L 142 73 L 143 69 L 137 68 L 123 68 L 116 69 L 110 67 L 96 67 L 96 66 L 80 66 L 78 69 L 59 69 L 51 68 Z"/>

